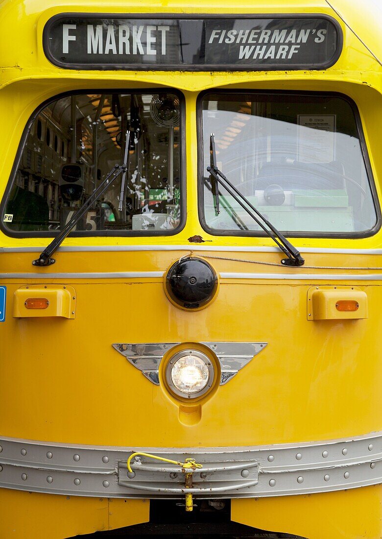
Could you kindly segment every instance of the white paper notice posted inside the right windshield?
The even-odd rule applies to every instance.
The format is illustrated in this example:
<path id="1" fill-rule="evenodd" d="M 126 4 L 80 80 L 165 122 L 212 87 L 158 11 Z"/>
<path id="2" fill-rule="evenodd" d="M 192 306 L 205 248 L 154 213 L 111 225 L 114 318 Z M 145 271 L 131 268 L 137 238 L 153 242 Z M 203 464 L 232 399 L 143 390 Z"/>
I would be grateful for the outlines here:
<path id="1" fill-rule="evenodd" d="M 330 163 L 335 160 L 335 114 L 298 114 L 298 126 L 298 161 Z"/>

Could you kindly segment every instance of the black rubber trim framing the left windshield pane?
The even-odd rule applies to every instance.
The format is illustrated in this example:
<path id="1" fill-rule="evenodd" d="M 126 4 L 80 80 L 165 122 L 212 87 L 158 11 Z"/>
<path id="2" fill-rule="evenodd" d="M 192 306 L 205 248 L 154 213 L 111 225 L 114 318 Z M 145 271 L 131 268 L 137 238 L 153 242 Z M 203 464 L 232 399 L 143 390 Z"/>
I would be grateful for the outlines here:
<path id="1" fill-rule="evenodd" d="M 186 151 L 185 151 L 185 99 L 182 92 L 180 92 L 176 88 L 144 88 L 144 89 L 133 89 L 130 90 L 128 88 L 101 88 L 101 89 L 94 89 L 94 88 L 88 88 L 88 89 L 81 89 L 81 90 L 71 90 L 69 92 L 63 92 L 61 94 L 57 94 L 52 96 L 51 98 L 45 100 L 39 107 L 34 110 L 32 115 L 30 116 L 29 120 L 27 121 L 27 124 L 24 128 L 22 137 L 20 139 L 20 143 L 17 149 L 15 162 L 13 163 L 13 167 L 11 170 L 10 178 L 8 181 L 8 184 L 6 185 L 4 195 L 0 204 L 0 215 L 4 215 L 6 204 L 8 203 L 9 196 L 11 194 L 11 190 L 13 187 L 13 182 L 16 178 L 16 172 L 19 167 L 22 152 L 24 149 L 24 145 L 27 139 L 27 136 L 29 135 L 30 129 L 32 127 L 32 123 L 34 120 L 36 120 L 37 116 L 43 110 L 45 107 L 50 105 L 53 101 L 56 101 L 58 99 L 65 98 L 70 95 L 80 95 L 80 94 L 87 94 L 87 93 L 95 93 L 95 94 L 102 94 L 102 93 L 136 93 L 136 94 L 155 94 L 155 93 L 163 93 L 163 92 L 169 92 L 176 94 L 179 97 L 179 104 L 180 104 L 180 123 L 179 123 L 179 129 L 180 129 L 180 137 L 179 137 L 179 143 L 180 143 L 180 222 L 179 225 L 176 227 L 176 229 L 169 230 L 169 231 L 162 231 L 162 230 L 142 230 L 142 231 L 136 231 L 136 230 L 103 230 L 103 231 L 75 231 L 71 232 L 68 237 L 145 237 L 145 236 L 175 236 L 175 234 L 178 234 L 181 230 L 183 230 L 185 224 L 186 224 Z M 3 223 L 3 220 L 0 219 L 0 230 L 6 234 L 6 236 L 10 236 L 11 238 L 54 238 L 55 236 L 58 236 L 60 231 L 55 230 L 48 230 L 48 231 L 30 231 L 30 232 L 19 232 L 8 229 L 5 224 Z"/>

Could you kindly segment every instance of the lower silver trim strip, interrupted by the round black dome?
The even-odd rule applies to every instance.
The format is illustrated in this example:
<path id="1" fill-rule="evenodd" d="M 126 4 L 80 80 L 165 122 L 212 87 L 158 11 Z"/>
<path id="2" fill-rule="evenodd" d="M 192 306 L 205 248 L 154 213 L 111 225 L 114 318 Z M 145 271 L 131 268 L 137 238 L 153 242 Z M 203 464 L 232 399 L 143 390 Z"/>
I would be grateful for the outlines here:
<path id="1" fill-rule="evenodd" d="M 382 271 L 382 266 L 381 266 Z M 157 279 L 161 271 L 105 273 L 0 273 L 0 279 Z M 301 281 L 381 281 L 382 273 L 231 273 L 221 272 L 221 279 L 301 280 Z"/>

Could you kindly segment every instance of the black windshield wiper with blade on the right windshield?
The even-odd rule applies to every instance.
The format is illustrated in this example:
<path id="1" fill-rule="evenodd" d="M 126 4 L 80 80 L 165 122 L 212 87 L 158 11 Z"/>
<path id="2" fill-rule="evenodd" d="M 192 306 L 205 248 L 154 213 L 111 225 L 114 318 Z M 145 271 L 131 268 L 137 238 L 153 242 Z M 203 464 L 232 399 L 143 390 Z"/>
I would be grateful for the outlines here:
<path id="1" fill-rule="evenodd" d="M 259 210 L 248 201 L 248 199 L 241 194 L 241 192 L 224 176 L 223 172 L 218 169 L 216 164 L 216 150 L 215 150 L 215 137 L 214 134 L 210 136 L 210 151 L 211 151 L 211 166 L 207 167 L 207 172 L 210 172 L 212 178 L 214 178 L 215 184 L 220 183 L 229 195 L 240 204 L 249 216 L 265 231 L 270 238 L 273 239 L 277 247 L 287 255 L 288 258 L 283 258 L 281 264 L 284 266 L 302 266 L 305 260 L 302 258 L 300 252 L 294 247 L 290 241 L 285 238 L 281 232 L 279 232 L 272 223 L 269 223 L 268 219 L 260 213 Z M 215 195 L 215 208 L 218 213 L 219 210 L 219 190 L 214 189 Z M 249 208 L 247 207 L 249 206 Z M 257 216 L 257 217 L 256 217 Z M 259 220 L 261 219 L 261 220 Z M 261 222 L 262 221 L 262 222 Z M 265 224 L 264 224 L 265 223 Z M 265 226 L 267 225 L 270 230 Z"/>

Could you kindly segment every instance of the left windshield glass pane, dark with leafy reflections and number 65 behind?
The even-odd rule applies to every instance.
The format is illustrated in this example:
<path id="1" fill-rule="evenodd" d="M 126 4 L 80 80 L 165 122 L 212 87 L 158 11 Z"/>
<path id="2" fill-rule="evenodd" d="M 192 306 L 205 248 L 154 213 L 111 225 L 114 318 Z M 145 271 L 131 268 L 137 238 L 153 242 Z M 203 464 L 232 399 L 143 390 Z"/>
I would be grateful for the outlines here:
<path id="1" fill-rule="evenodd" d="M 52 101 L 32 122 L 5 201 L 13 232 L 59 231 L 123 163 L 122 175 L 74 230 L 98 234 L 171 232 L 180 223 L 179 96 L 163 93 L 77 94 Z M 121 209 L 119 209 L 121 206 Z"/>

